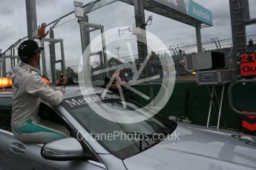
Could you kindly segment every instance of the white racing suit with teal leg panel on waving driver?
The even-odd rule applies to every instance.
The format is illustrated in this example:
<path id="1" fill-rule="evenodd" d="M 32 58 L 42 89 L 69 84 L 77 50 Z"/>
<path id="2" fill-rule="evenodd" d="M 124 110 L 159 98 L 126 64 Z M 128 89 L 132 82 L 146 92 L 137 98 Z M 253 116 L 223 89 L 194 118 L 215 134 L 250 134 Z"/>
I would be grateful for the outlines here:
<path id="1" fill-rule="evenodd" d="M 41 100 L 53 106 L 62 102 L 61 91 L 54 91 L 39 76 L 39 70 L 22 61 L 13 68 L 13 109 L 11 128 L 22 142 L 47 143 L 68 137 L 64 126 L 41 120 L 37 114 Z"/>

